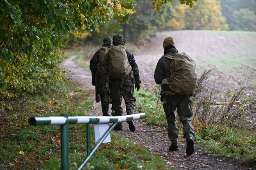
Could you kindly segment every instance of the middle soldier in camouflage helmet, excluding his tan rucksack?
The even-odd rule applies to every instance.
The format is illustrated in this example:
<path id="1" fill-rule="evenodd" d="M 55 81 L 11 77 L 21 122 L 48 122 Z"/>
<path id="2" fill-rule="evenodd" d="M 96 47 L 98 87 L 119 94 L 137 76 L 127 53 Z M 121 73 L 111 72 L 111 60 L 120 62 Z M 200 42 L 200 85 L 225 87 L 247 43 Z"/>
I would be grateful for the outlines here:
<path id="1" fill-rule="evenodd" d="M 118 45 L 125 45 L 125 38 L 122 35 L 115 35 L 113 36 L 113 45 L 118 46 Z M 110 79 L 110 93 L 112 97 L 112 106 L 113 110 L 116 112 L 115 116 L 122 116 L 122 97 L 125 100 L 125 106 L 126 106 L 126 113 L 127 115 L 129 114 L 134 114 L 135 112 L 135 101 L 136 99 L 134 98 L 134 83 L 135 83 L 135 88 L 137 88 L 137 91 L 140 89 L 140 74 L 139 74 L 139 69 L 138 65 L 136 63 L 136 60 L 134 58 L 134 54 L 128 49 L 125 49 L 127 58 L 129 60 L 129 64 L 132 67 L 132 70 L 130 74 L 125 76 L 125 78 L 121 79 L 114 79 L 109 76 L 109 53 L 106 54 L 103 64 L 102 64 L 102 84 L 106 84 L 107 82 L 107 77 L 109 76 Z M 134 82 L 135 80 L 135 82 Z M 107 87 L 103 86 L 102 89 L 104 91 L 107 91 Z M 129 129 L 131 132 L 135 131 L 135 126 L 133 121 L 127 121 L 129 124 Z M 114 130 L 123 130 L 122 128 L 122 123 L 118 123 Z"/>

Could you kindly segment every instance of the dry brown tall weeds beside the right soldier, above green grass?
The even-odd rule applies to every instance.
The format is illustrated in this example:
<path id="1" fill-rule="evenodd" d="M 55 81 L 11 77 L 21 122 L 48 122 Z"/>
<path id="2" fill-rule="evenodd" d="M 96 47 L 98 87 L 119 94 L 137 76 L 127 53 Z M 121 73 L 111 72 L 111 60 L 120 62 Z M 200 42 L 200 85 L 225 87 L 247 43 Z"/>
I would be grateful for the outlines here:
<path id="1" fill-rule="evenodd" d="M 195 103 L 195 114 L 193 120 L 201 122 L 204 126 L 212 127 L 216 124 L 230 127 L 245 127 L 249 114 L 252 114 L 256 106 L 255 99 L 245 98 L 242 93 L 244 88 L 229 91 L 224 95 L 222 102 L 213 101 L 213 93 L 205 88 L 207 78 L 211 76 L 212 70 L 205 70 L 198 79 L 197 89 L 193 101 Z"/>

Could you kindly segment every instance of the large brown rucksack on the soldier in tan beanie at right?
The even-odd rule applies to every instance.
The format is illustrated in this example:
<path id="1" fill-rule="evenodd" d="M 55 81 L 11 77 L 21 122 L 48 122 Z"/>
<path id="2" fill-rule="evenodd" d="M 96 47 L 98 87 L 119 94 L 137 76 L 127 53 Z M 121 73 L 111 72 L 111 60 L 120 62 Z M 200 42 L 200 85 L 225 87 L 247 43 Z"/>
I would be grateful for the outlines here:
<path id="1" fill-rule="evenodd" d="M 164 57 L 172 59 L 171 76 L 168 78 L 170 89 L 179 95 L 192 94 L 197 87 L 195 61 L 185 53 L 177 56 L 165 54 Z"/>

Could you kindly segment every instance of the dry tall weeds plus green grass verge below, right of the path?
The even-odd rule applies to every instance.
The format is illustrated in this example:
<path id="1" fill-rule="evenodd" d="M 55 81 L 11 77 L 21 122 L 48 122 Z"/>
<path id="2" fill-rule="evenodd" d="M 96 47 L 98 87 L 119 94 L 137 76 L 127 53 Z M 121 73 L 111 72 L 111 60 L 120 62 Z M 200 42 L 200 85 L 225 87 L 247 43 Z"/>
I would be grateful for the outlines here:
<path id="1" fill-rule="evenodd" d="M 213 101 L 216 87 L 206 89 L 212 70 L 205 70 L 198 79 L 193 96 L 196 139 L 204 152 L 244 163 L 256 162 L 256 136 L 251 129 L 256 99 L 248 98 L 244 88 L 229 91 L 221 102 Z"/>

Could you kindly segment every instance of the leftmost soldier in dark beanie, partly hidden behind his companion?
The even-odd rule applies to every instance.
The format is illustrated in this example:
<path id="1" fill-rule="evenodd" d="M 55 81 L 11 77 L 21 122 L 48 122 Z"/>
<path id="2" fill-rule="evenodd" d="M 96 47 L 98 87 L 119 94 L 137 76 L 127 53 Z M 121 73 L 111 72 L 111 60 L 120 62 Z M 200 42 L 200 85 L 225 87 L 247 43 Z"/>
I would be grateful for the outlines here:
<path id="1" fill-rule="evenodd" d="M 106 37 L 103 40 L 102 47 L 113 47 L 112 46 L 112 38 Z M 101 75 L 98 71 L 98 65 L 100 63 L 100 49 L 96 51 L 93 58 L 90 60 L 90 69 L 92 73 L 92 85 L 95 86 L 95 100 L 96 102 L 101 101 L 102 113 L 103 116 L 110 116 L 109 115 L 109 94 L 102 91 L 101 85 Z M 105 54 L 104 54 L 105 55 Z"/>

